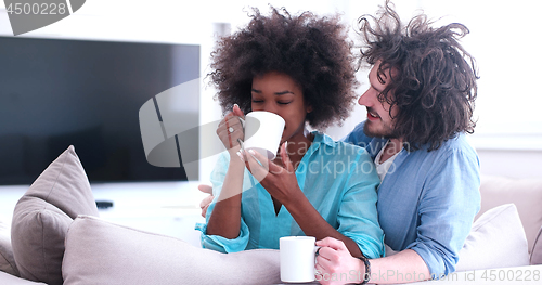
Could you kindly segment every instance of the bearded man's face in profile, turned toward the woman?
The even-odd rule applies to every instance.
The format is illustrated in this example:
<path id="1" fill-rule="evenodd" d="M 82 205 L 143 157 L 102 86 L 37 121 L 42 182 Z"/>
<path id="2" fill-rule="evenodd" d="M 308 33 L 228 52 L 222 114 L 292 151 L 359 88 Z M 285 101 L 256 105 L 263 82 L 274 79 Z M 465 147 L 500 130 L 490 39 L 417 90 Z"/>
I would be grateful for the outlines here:
<path id="1" fill-rule="evenodd" d="M 379 66 L 380 62 L 378 61 L 369 73 L 369 82 L 371 86 L 358 100 L 360 105 L 367 108 L 367 120 L 365 121 L 363 131 L 369 137 L 396 139 L 397 135 L 393 130 L 393 119 L 391 118 L 389 112 L 390 105 L 387 102 L 378 101 L 378 94 L 380 94 L 389 83 L 390 69 L 386 69 L 382 76 L 382 79 L 385 81 L 383 83 L 378 80 L 376 75 Z M 392 91 L 388 92 L 388 95 L 392 96 Z M 391 115 L 396 117 L 397 112 L 397 106 L 393 106 Z"/>

